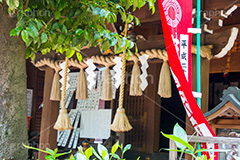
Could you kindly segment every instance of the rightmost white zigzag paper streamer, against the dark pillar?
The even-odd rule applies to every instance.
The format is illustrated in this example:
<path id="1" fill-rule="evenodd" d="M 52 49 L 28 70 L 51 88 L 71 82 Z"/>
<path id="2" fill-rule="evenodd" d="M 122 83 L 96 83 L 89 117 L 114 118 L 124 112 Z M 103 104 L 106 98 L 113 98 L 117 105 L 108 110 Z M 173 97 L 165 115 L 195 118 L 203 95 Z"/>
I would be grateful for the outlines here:
<path id="1" fill-rule="evenodd" d="M 144 91 L 148 86 L 148 82 L 147 82 L 147 68 L 149 67 L 147 63 L 148 57 L 149 57 L 148 54 L 144 54 L 139 57 L 139 60 L 142 64 L 142 67 L 141 67 L 142 74 L 140 75 L 140 79 L 142 81 L 142 83 L 140 84 L 140 88 L 142 89 L 142 91 Z"/>

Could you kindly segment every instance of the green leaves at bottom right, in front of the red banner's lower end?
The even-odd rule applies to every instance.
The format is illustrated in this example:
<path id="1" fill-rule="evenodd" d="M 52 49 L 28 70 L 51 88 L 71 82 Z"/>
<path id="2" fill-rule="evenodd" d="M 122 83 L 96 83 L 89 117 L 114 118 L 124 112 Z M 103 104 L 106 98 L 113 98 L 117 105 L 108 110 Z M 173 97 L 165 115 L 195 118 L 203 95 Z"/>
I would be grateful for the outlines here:
<path id="1" fill-rule="evenodd" d="M 176 143 L 176 146 L 178 148 L 178 149 L 164 149 L 164 150 L 180 152 L 181 153 L 180 159 L 182 158 L 183 153 L 190 154 L 192 156 L 192 158 L 195 158 L 196 160 L 207 160 L 206 155 L 197 157 L 196 154 L 202 153 L 202 152 L 226 152 L 226 151 L 229 151 L 226 149 L 196 149 L 197 148 L 196 143 L 195 143 L 194 147 L 191 144 L 189 144 L 190 140 L 188 141 L 188 139 L 187 139 L 187 133 L 178 124 L 175 124 L 175 126 L 173 128 L 173 135 L 164 134 L 163 132 L 161 132 L 161 133 L 164 137 L 173 140 Z M 208 160 L 212 160 L 212 159 L 213 159 L 213 157 Z"/>

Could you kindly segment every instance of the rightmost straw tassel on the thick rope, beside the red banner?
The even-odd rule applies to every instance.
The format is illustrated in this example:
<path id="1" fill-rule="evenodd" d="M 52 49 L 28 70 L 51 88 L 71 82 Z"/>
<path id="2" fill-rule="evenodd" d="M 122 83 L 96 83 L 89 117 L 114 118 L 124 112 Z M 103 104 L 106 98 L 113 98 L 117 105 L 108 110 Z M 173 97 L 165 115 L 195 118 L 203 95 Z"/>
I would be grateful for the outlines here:
<path id="1" fill-rule="evenodd" d="M 163 98 L 172 97 L 170 69 L 167 60 L 164 60 L 160 71 L 158 94 Z"/>

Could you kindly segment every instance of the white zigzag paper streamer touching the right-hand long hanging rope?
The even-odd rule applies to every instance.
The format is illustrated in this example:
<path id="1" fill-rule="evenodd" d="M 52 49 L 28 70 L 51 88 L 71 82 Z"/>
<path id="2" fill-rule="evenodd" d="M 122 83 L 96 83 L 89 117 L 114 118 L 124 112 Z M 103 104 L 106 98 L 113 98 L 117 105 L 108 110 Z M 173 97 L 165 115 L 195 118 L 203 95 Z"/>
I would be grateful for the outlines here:
<path id="1" fill-rule="evenodd" d="M 115 88 L 119 88 L 121 84 L 121 77 L 122 77 L 122 58 L 116 57 L 113 60 L 116 65 L 113 67 L 113 70 L 115 71 L 114 79 L 115 79 Z"/>

